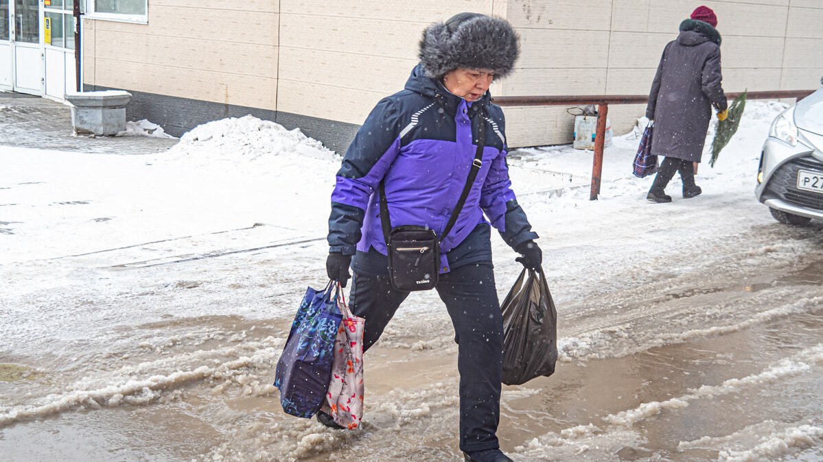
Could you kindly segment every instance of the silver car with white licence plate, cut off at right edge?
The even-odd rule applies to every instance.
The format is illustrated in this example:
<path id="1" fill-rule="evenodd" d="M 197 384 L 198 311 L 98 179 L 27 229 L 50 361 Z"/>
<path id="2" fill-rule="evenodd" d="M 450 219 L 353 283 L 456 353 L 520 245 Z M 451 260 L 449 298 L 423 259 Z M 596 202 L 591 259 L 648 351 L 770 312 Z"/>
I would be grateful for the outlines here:
<path id="1" fill-rule="evenodd" d="M 772 122 L 755 196 L 781 223 L 823 219 L 823 88 Z"/>

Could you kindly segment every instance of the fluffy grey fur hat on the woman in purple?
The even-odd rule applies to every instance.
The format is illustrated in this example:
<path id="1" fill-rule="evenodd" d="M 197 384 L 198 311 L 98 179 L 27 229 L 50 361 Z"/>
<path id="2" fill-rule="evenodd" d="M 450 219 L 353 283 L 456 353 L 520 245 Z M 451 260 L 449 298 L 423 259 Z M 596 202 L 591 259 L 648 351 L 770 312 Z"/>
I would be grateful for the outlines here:
<path id="1" fill-rule="evenodd" d="M 423 70 L 435 79 L 458 67 L 491 69 L 495 78 L 503 77 L 519 54 L 519 37 L 509 22 L 480 13 L 459 13 L 430 25 L 420 41 Z"/>

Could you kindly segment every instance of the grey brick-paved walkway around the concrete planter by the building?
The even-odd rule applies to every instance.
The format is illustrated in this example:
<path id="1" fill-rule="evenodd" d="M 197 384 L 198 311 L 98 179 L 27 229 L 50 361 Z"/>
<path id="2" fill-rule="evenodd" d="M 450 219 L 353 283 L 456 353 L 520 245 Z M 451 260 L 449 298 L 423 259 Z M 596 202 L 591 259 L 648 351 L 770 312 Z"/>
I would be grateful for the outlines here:
<path id="1" fill-rule="evenodd" d="M 71 109 L 66 104 L 0 91 L 0 146 L 142 155 L 167 150 L 176 142 L 150 136 L 75 136 Z"/>

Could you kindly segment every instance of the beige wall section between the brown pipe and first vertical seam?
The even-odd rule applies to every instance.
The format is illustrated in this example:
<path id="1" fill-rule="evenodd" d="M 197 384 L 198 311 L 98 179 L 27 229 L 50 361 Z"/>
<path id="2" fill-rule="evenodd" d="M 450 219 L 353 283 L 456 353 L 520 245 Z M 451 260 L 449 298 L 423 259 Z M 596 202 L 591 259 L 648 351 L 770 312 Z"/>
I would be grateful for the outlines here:
<path id="1" fill-rule="evenodd" d="M 149 0 L 148 24 L 83 22 L 83 83 L 277 104 L 277 0 Z"/>

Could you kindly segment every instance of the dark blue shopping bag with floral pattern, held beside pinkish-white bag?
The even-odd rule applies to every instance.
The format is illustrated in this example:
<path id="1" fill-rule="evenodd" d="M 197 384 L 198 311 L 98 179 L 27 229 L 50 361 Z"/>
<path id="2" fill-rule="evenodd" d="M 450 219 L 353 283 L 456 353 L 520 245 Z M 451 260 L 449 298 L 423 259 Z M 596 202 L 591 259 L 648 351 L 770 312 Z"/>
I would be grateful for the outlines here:
<path id="1" fill-rule="evenodd" d="M 325 400 L 343 317 L 337 309 L 339 293 L 340 284 L 331 282 L 322 291 L 306 289 L 277 361 L 274 386 L 280 389 L 280 404 L 296 417 L 311 418 Z"/>

